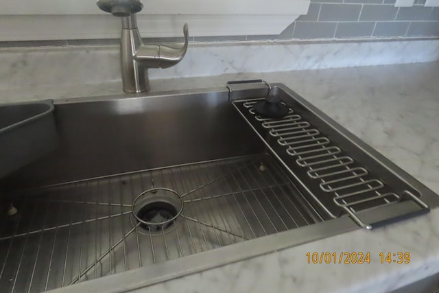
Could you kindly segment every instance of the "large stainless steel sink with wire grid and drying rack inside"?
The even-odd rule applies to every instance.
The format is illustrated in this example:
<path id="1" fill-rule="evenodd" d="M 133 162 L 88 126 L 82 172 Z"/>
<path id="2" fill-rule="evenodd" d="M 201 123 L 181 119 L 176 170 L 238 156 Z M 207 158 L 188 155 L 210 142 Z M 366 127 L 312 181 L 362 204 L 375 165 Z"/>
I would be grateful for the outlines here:
<path id="1" fill-rule="evenodd" d="M 287 117 L 254 115 L 268 94 Z M 126 292 L 439 202 L 281 84 L 55 108 L 58 150 L 0 181 L 19 211 L 0 219 L 1 292 Z"/>

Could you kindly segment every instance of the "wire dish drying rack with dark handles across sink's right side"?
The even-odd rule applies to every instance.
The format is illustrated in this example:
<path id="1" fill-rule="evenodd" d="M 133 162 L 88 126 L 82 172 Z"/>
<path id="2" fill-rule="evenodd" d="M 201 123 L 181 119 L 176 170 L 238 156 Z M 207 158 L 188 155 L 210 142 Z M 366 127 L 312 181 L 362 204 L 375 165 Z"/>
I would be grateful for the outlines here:
<path id="1" fill-rule="evenodd" d="M 278 95 L 265 81 L 251 82 L 262 82 L 268 86 L 268 95 Z M 300 104 L 296 104 L 296 110 L 286 98 L 282 100 L 289 106 L 287 116 L 261 117 L 253 106 L 265 97 L 233 100 L 230 86 L 237 83 L 228 84 L 235 108 L 280 159 L 302 191 L 331 218 L 349 215 L 361 227 L 372 229 L 429 212 L 416 189 L 384 166 L 377 166 L 377 162 L 366 167 L 372 158 L 356 148 L 353 141 L 348 141 L 351 143 L 348 148 L 337 144 L 339 139 L 346 143 L 346 138 L 311 110 Z M 316 124 L 322 125 L 322 129 Z"/>

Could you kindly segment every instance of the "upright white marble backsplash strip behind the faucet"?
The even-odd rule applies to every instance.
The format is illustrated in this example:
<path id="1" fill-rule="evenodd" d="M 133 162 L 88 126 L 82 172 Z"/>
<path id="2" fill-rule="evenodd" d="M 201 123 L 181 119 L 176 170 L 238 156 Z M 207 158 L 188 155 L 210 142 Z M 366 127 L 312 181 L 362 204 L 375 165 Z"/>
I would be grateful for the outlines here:
<path id="1" fill-rule="evenodd" d="M 182 62 L 150 69 L 150 79 L 431 62 L 439 40 L 347 43 L 193 43 Z M 75 86 L 121 80 L 117 46 L 0 49 L 0 89 Z M 21 96 L 21 99 L 26 97 Z M 0 102 L 11 97 L 0 97 Z"/>

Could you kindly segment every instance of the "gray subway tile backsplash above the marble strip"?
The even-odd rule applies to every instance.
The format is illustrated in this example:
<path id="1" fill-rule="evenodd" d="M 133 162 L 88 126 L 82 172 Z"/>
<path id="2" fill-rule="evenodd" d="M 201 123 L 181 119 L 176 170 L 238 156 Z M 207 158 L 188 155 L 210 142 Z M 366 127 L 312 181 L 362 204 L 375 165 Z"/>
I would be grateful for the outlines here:
<path id="1" fill-rule="evenodd" d="M 311 0 L 307 15 L 278 35 L 203 36 L 190 42 L 248 40 L 345 39 L 345 38 L 431 38 L 439 37 L 439 8 L 426 8 L 415 0 L 410 8 L 394 8 L 395 0 Z M 147 38 L 146 42 L 173 43 L 182 38 Z M 41 40 L 0 42 L 0 47 L 115 45 L 117 39 Z"/>

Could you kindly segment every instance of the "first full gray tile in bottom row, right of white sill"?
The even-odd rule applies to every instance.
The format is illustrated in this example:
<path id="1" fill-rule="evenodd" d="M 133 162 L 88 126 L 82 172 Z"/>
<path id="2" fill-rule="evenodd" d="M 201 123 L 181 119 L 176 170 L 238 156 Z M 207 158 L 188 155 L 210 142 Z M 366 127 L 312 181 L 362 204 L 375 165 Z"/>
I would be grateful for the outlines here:
<path id="1" fill-rule="evenodd" d="M 294 38 L 333 38 L 337 23 L 316 23 L 299 21 L 296 23 Z"/>

